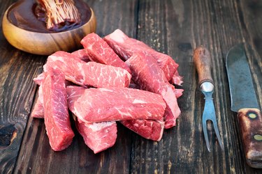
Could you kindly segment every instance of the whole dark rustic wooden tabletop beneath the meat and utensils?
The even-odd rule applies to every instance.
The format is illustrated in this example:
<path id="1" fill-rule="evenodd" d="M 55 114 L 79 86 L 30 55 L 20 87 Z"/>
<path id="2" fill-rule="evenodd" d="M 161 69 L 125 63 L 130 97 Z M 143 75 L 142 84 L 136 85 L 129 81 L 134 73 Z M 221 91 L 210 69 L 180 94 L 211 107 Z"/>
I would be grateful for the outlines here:
<path id="1" fill-rule="evenodd" d="M 15 1 L 0 2 L 2 19 L 4 11 Z M 117 125 L 117 142 L 104 152 L 94 155 L 79 134 L 69 148 L 54 152 L 43 120 L 30 117 L 38 89 L 32 79 L 42 72 L 47 56 L 15 49 L 0 32 L 0 173 L 262 172 L 245 163 L 236 113 L 230 110 L 224 65 L 228 49 L 244 42 L 262 106 L 261 1 L 89 0 L 87 3 L 96 13 L 96 33 L 102 37 L 122 29 L 179 63 L 184 95 L 178 100 L 182 114 L 177 126 L 165 130 L 163 139 L 154 142 Z M 203 139 L 204 100 L 197 89 L 192 61 L 192 52 L 198 45 L 208 47 L 213 60 L 214 104 L 224 152 L 213 130 L 209 134 L 211 152 Z"/>

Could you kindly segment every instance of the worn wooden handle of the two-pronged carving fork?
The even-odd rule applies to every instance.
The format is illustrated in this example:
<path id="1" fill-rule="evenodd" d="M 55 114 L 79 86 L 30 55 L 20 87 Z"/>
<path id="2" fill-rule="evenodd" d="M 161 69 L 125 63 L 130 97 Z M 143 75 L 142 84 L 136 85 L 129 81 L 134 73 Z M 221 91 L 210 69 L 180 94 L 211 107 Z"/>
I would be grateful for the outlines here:
<path id="1" fill-rule="evenodd" d="M 205 81 L 214 84 L 211 76 L 211 57 L 208 49 L 203 46 L 197 47 L 194 50 L 193 59 L 198 72 L 198 84 L 201 85 Z"/>

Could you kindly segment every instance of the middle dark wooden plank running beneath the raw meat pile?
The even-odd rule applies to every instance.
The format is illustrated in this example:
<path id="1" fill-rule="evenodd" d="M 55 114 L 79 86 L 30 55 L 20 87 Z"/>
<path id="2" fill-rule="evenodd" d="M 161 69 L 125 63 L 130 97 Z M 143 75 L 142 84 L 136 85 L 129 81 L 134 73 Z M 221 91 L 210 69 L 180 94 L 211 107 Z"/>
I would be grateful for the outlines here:
<path id="1" fill-rule="evenodd" d="M 86 2 L 96 14 L 96 33 L 103 37 L 119 28 L 136 37 L 138 1 Z M 129 173 L 131 131 L 120 124 L 117 129 L 115 145 L 99 154 L 94 155 L 78 133 L 69 148 L 54 152 L 43 120 L 29 117 L 14 173 Z"/>

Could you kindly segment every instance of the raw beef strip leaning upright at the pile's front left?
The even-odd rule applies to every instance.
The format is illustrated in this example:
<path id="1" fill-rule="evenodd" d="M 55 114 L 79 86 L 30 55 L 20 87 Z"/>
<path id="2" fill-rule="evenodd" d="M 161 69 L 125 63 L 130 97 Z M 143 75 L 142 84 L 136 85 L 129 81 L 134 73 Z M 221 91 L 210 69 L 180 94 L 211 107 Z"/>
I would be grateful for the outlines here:
<path id="1" fill-rule="evenodd" d="M 45 129 L 54 151 L 64 150 L 73 141 L 68 114 L 65 77 L 59 70 L 50 70 L 42 84 Z"/>

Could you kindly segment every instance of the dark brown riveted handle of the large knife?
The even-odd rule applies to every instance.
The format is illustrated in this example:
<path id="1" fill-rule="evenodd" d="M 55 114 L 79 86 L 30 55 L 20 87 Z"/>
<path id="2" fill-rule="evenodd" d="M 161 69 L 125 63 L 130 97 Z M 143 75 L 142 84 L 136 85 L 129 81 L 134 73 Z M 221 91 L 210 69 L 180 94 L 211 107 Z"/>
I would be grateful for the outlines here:
<path id="1" fill-rule="evenodd" d="M 262 168 L 262 116 L 259 109 L 240 109 L 238 111 L 242 144 L 247 164 Z"/>

